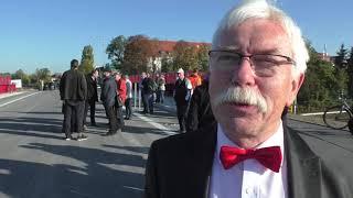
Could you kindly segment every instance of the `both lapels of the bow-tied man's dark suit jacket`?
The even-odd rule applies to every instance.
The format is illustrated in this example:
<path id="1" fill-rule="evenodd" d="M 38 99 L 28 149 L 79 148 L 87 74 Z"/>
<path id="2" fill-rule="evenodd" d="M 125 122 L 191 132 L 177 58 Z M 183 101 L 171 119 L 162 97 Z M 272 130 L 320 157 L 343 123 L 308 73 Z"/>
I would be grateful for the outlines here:
<path id="1" fill-rule="evenodd" d="M 194 189 L 196 197 L 208 196 L 212 165 L 217 139 L 217 123 L 210 128 L 205 127 L 195 134 L 196 140 L 190 162 L 195 163 L 197 170 L 190 172 L 190 178 L 201 184 Z M 284 122 L 285 152 L 288 164 L 288 195 L 289 198 L 321 197 L 321 163 L 320 158 L 311 151 L 308 144 L 297 134 L 296 131 L 287 129 Z M 202 140 L 202 141 L 201 141 Z M 196 157 L 196 158 L 194 158 Z M 195 177 L 193 177 L 195 176 Z"/>

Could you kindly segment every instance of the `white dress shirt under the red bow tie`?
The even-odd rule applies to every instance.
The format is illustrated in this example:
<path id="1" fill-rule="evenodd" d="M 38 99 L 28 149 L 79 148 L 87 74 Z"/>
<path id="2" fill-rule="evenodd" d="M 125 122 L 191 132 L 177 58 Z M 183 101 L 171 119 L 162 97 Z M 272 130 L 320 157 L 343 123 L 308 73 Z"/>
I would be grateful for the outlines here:
<path id="1" fill-rule="evenodd" d="M 221 146 L 237 146 L 217 127 L 217 145 L 213 161 L 210 198 L 286 198 L 288 197 L 287 161 L 284 147 L 284 128 L 280 122 L 277 132 L 256 148 L 280 146 L 282 162 L 279 173 L 263 166 L 256 160 L 245 160 L 229 169 L 224 169 L 220 160 Z"/>

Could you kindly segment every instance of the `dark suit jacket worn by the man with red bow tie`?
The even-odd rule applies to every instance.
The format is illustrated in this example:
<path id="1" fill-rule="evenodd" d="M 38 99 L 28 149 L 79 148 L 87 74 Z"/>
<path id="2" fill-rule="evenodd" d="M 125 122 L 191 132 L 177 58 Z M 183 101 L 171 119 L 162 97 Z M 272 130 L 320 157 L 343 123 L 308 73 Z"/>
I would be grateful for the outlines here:
<path id="1" fill-rule="evenodd" d="M 352 160 L 352 151 L 333 155 L 335 160 L 324 152 L 319 156 L 286 122 L 284 125 L 289 198 L 352 198 L 353 164 L 343 158 Z M 201 130 L 152 143 L 146 167 L 147 198 L 207 197 L 217 125 Z"/>

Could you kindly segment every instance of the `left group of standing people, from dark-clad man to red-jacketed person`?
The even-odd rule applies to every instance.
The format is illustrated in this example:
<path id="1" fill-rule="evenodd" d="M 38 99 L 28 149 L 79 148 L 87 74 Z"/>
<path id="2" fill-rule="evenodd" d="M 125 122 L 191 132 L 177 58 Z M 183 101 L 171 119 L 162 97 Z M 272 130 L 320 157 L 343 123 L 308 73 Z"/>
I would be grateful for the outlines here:
<path id="1" fill-rule="evenodd" d="M 78 61 L 71 62 L 71 69 L 66 70 L 60 82 L 60 95 L 63 100 L 63 133 L 65 140 L 86 140 L 83 132 L 87 129 L 86 117 L 90 109 L 90 125 L 97 127 L 95 120 L 96 102 L 98 101 L 97 79 L 99 70 L 94 69 L 85 76 L 78 70 Z M 107 68 L 104 70 L 100 100 L 108 118 L 109 130 L 105 135 L 114 135 L 121 131 L 124 119 L 131 118 L 132 84 L 126 75 Z M 126 117 L 122 116 L 122 106 L 126 106 Z"/>

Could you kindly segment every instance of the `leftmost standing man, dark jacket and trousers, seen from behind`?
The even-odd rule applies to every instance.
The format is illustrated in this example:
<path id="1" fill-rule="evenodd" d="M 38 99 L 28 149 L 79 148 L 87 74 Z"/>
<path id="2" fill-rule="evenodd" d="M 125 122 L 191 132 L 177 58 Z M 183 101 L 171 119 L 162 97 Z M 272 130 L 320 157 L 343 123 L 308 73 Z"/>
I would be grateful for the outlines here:
<path id="1" fill-rule="evenodd" d="M 87 139 L 83 134 L 84 106 L 87 96 L 87 84 L 85 75 L 78 72 L 78 61 L 71 62 L 71 69 L 66 70 L 60 81 L 60 96 L 64 102 L 63 132 L 65 140 L 73 140 L 72 131 L 78 133 L 77 141 Z M 74 120 L 74 122 L 72 122 Z M 72 130 L 72 128 L 75 128 Z"/>

